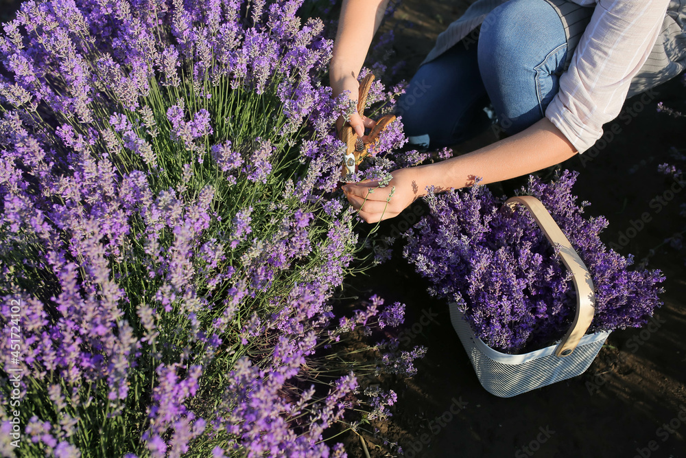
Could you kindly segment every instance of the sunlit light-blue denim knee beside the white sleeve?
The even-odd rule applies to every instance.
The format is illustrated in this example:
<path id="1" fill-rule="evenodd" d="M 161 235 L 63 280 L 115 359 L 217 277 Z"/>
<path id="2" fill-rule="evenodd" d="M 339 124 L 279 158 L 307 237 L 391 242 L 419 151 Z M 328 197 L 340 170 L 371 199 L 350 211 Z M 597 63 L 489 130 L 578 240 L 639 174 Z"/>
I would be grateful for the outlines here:
<path id="1" fill-rule="evenodd" d="M 506 132 L 517 133 L 543 117 L 566 53 L 565 28 L 545 0 L 510 0 L 486 16 L 479 68 Z"/>

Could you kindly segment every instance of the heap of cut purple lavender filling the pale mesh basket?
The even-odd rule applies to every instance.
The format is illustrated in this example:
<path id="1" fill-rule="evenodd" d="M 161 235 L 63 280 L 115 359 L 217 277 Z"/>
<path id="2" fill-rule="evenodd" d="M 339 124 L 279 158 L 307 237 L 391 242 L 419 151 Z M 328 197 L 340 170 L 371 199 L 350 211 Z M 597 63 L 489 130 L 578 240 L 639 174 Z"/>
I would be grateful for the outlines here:
<path id="1" fill-rule="evenodd" d="M 646 323 L 661 305 L 660 271 L 630 270 L 632 256 L 606 249 L 607 220 L 584 216 L 571 187 L 576 172 L 552 183 L 530 177 L 521 190 L 543 203 L 589 268 L 595 317 L 589 333 Z M 525 208 L 514 211 L 487 187 L 430 194 L 431 212 L 408 231 L 403 251 L 429 279 L 429 291 L 457 302 L 475 334 L 505 353 L 535 350 L 563 337 L 576 308 L 571 274 Z"/>

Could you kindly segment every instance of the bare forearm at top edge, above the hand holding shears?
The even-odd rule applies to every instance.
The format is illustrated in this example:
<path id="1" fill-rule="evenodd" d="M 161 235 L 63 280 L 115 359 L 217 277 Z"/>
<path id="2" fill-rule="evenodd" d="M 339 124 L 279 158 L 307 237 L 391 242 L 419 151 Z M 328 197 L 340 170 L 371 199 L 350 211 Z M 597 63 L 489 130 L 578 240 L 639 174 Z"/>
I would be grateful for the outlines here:
<path id="1" fill-rule="evenodd" d="M 357 78 L 388 0 L 345 0 L 329 66 L 332 86 L 348 76 Z"/>

